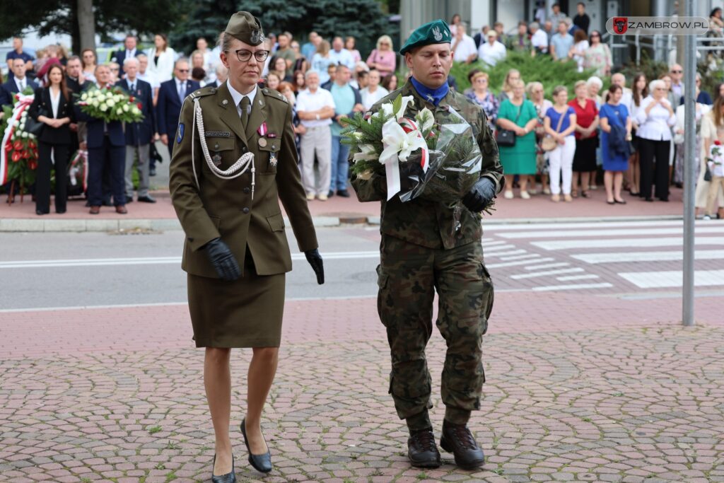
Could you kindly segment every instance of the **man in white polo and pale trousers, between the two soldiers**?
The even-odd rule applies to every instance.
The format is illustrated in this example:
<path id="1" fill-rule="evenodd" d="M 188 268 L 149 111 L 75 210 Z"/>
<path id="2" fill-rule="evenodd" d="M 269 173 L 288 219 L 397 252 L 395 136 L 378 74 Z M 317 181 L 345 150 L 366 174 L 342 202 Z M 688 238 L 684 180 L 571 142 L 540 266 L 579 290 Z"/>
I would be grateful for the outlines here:
<path id="1" fill-rule="evenodd" d="M 327 201 L 329 183 L 332 181 L 332 117 L 334 98 L 332 93 L 319 88 L 319 72 L 308 70 L 304 75 L 307 88 L 297 96 L 297 114 L 306 127 L 301 135 L 302 184 L 307 200 L 314 196 Z M 314 156 L 319 162 L 319 185 L 314 182 Z"/>

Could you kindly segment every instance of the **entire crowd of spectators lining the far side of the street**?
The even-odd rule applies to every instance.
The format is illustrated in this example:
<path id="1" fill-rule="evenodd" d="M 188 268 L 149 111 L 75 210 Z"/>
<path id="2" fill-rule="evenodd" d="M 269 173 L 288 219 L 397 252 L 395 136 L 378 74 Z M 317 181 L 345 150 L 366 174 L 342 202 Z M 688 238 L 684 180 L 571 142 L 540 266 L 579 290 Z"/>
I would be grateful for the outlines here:
<path id="1" fill-rule="evenodd" d="M 504 25 L 496 22 L 492 28 L 485 26 L 470 37 L 459 15 L 450 22 L 456 62 L 481 59 L 493 65 L 508 51 L 530 51 L 532 55 L 573 59 L 579 70 L 595 70 L 588 80 L 576 83 L 572 92 L 563 85 L 555 86 L 550 99 L 545 98 L 541 83 L 525 83 L 518 70 L 508 71 L 500 88 L 490 85 L 486 72 L 469 72 L 471 88 L 465 95 L 484 109 L 498 136 L 507 178 L 503 196 L 514 198 L 514 189 L 518 188 L 518 196 L 523 199 L 538 193 L 550 195 L 554 202 L 589 198 L 590 190 L 598 189 L 597 175 L 602 171 L 607 203 L 625 204 L 623 191 L 645 201 L 668 201 L 670 185 L 683 182 L 683 70 L 675 64 L 659 79 L 647 79 L 639 73 L 628 88 L 623 74 L 610 75 L 610 51 L 601 42 L 599 32 L 589 33 L 585 5 L 579 3 L 577 10 L 571 19 L 554 4 L 547 17 L 536 12 L 539 20 L 519 22 L 512 35 L 505 35 Z M 31 88 L 38 87 L 26 75 L 28 70 L 35 72 L 44 88 L 56 93 L 49 79 L 49 66 L 53 64 L 64 70 L 61 89 L 69 100 L 67 92 L 79 93 L 93 83 L 98 87 L 119 85 L 135 90 L 139 96 L 148 95 L 148 115 L 143 123 L 115 137 L 106 135 L 111 125 L 105 126 L 106 131 L 99 135 L 103 146 L 96 146 L 104 154 L 93 156 L 93 150 L 89 153 L 91 160 L 98 156 L 105 160 L 98 163 L 101 169 L 93 169 L 90 163 L 91 211 L 97 212 L 101 203 L 110 204 L 112 194 L 117 211 L 122 213 L 125 203 L 132 201 L 134 165 L 140 180 L 138 200 L 153 202 L 148 194 L 148 177 L 155 174 L 157 157 L 153 156 L 153 141 L 161 140 L 172 153 L 172 136 L 183 98 L 195 89 L 225 82 L 227 70 L 219 59 L 222 35 L 216 39 L 214 49 L 209 49 L 205 38 L 199 38 L 188 58 L 169 46 L 166 35 L 155 35 L 153 47 L 146 51 L 137 48 L 135 36 L 127 35 L 124 49 L 103 63 L 91 49 L 83 49 L 80 56 L 67 56 L 63 49 L 43 49 L 42 61 L 40 55 L 33 59 L 22 51 L 22 39 L 17 38 L 16 49 L 8 55 L 11 74 L 0 89 L 0 104 L 9 103 L 10 94 L 22 91 L 26 82 Z M 288 32 L 269 34 L 266 49 L 269 54 L 264 60 L 261 86 L 279 91 L 294 107 L 300 171 L 308 201 L 350 196 L 349 147 L 342 143 L 340 135 L 344 118 L 366 112 L 398 87 L 392 39 L 382 35 L 366 59 L 355 49 L 355 38 L 337 36 L 328 40 L 316 32 L 310 33 L 306 42 Z M 100 79 L 99 68 L 108 72 Z M 601 77 L 608 75 L 610 88 L 601 92 Z M 455 80 L 451 77 L 449 81 L 455 88 Z M 712 99 L 699 89 L 700 82 L 697 76 L 696 208 L 697 214 L 705 218 L 721 217 L 724 193 L 720 182 L 710 181 L 710 176 L 704 174 L 711 172 L 707 169 L 710 146 L 715 140 L 724 142 L 724 86 Z M 52 107 L 55 109 L 55 104 Z M 83 119 L 77 119 L 74 113 L 77 109 L 70 112 L 61 136 L 71 138 L 67 140 L 70 152 L 78 147 L 87 149 L 89 141 L 88 129 L 79 122 Z M 111 154 L 112 148 L 116 154 Z M 41 152 L 47 155 L 54 151 Z M 43 169 L 39 170 L 43 177 L 49 172 L 50 162 L 49 155 L 44 157 Z M 38 214 L 48 210 L 45 191 Z"/>

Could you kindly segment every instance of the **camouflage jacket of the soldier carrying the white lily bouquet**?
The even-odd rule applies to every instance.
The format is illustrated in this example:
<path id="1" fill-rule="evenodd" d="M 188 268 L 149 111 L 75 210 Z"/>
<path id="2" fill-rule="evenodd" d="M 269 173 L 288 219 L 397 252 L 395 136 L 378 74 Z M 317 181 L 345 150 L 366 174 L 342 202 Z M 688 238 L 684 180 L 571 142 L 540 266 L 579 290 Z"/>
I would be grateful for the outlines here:
<path id="1" fill-rule="evenodd" d="M 449 115 L 448 108 L 455 109 L 473 127 L 478 140 L 481 154 L 483 155 L 483 166 L 481 177 L 486 176 L 493 180 L 497 186 L 497 193 L 502 190 L 505 178 L 502 177 L 502 166 L 498 156 L 497 143 L 493 138 L 487 118 L 483 109 L 473 104 L 460 93 L 450 91 L 445 98 L 442 98 L 438 106 L 426 101 L 413 87 L 408 80 L 402 88 L 397 89 L 380 99 L 372 106 L 368 114 L 377 112 L 380 106 L 394 100 L 398 94 L 413 96 L 414 103 L 408 107 L 406 113 L 412 117 L 416 112 L 427 107 L 430 109 L 437 121 L 444 120 Z M 400 198 L 394 196 L 390 201 L 387 199 L 387 180 L 383 175 L 372 175 L 369 180 L 361 180 L 355 175 L 352 176 L 352 185 L 357 192 L 359 201 L 381 201 L 382 221 L 380 231 L 385 235 L 422 245 L 427 248 L 455 248 L 459 245 L 480 240 L 482 236 L 481 218 L 479 214 L 471 213 L 462 203 L 459 214 L 460 228 L 455 230 L 457 224 L 455 209 L 444 203 L 416 198 L 403 203 Z"/>

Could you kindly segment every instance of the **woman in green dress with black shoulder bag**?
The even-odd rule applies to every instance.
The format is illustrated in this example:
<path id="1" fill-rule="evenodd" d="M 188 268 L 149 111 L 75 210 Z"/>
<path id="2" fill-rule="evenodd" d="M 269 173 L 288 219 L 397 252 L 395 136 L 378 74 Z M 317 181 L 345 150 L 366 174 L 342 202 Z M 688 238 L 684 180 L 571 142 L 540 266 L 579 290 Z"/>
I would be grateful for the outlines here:
<path id="1" fill-rule="evenodd" d="M 513 177 L 521 175 L 521 198 L 529 199 L 528 175 L 536 174 L 536 108 L 523 98 L 523 81 L 513 82 L 513 97 L 505 99 L 498 111 L 498 129 L 515 133 L 515 146 L 499 146 L 500 162 L 505 173 L 505 198 L 513 198 Z"/>

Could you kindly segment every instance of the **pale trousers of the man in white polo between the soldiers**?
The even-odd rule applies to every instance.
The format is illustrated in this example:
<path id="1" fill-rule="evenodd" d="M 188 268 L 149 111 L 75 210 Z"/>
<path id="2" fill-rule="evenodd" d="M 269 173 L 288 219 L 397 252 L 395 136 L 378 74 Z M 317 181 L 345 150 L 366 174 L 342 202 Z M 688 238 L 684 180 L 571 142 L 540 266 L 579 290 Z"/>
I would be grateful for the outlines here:
<path id="1" fill-rule="evenodd" d="M 306 193 L 327 195 L 332 180 L 332 130 L 329 126 L 307 127 L 300 141 L 302 184 Z M 319 163 L 319 188 L 314 182 L 314 155 Z"/>

